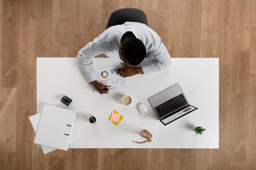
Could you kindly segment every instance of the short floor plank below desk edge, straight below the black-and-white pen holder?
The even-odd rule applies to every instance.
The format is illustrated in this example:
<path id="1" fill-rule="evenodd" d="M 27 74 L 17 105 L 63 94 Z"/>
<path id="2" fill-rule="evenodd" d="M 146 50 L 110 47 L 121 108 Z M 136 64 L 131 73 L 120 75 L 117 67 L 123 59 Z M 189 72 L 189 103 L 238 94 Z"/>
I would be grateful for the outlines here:
<path id="1" fill-rule="evenodd" d="M 82 170 L 98 170 L 99 149 L 81 150 Z M 107 168 L 106 168 L 107 169 Z"/>

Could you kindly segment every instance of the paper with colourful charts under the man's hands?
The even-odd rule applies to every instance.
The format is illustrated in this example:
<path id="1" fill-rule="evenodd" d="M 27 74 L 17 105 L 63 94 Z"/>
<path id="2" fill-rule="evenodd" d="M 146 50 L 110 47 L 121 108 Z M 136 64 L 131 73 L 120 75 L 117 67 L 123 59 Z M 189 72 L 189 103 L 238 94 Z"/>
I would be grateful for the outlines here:
<path id="1" fill-rule="evenodd" d="M 105 84 L 106 86 L 111 86 L 109 91 L 128 88 L 126 77 L 124 78 L 119 75 L 117 71 L 118 68 L 122 68 L 122 66 L 95 69 L 97 82 Z M 98 93 L 97 89 L 95 87 L 93 88 L 94 93 Z"/>

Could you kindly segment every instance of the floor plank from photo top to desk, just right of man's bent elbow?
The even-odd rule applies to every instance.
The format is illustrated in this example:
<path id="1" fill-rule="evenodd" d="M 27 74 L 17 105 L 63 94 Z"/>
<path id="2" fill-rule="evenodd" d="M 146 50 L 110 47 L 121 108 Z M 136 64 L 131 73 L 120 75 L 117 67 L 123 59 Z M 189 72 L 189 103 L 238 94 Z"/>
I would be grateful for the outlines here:
<path id="1" fill-rule="evenodd" d="M 169 2 L 168 51 L 171 57 L 184 56 L 185 0 Z"/>

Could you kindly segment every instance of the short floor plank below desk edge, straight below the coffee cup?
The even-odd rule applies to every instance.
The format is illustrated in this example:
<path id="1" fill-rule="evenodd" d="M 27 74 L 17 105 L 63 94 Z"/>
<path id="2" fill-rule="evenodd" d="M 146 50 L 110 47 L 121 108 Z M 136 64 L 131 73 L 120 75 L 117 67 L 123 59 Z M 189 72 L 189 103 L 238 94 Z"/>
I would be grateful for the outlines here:
<path id="1" fill-rule="evenodd" d="M 115 149 L 115 170 L 131 169 L 131 149 Z"/>

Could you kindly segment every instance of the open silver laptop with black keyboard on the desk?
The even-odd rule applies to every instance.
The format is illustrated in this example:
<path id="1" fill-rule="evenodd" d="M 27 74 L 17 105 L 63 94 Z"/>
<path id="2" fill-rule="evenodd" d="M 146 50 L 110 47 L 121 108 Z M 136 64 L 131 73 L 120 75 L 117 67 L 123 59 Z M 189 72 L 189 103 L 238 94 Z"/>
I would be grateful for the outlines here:
<path id="1" fill-rule="evenodd" d="M 197 109 L 194 106 L 191 106 L 189 104 L 189 101 L 186 98 L 186 95 L 184 94 L 180 84 L 178 83 L 165 89 L 162 92 L 157 93 L 156 95 L 153 95 L 152 97 L 149 97 L 148 101 L 152 106 L 159 120 L 166 119 L 166 117 L 175 115 L 175 113 L 179 113 L 180 115 L 179 117 L 176 116 L 176 117 L 173 117 L 172 119 L 169 119 L 174 121 L 176 120 L 176 118 L 178 119 L 190 113 L 191 111 Z M 171 123 L 171 122 L 168 121 L 168 123 Z"/>

